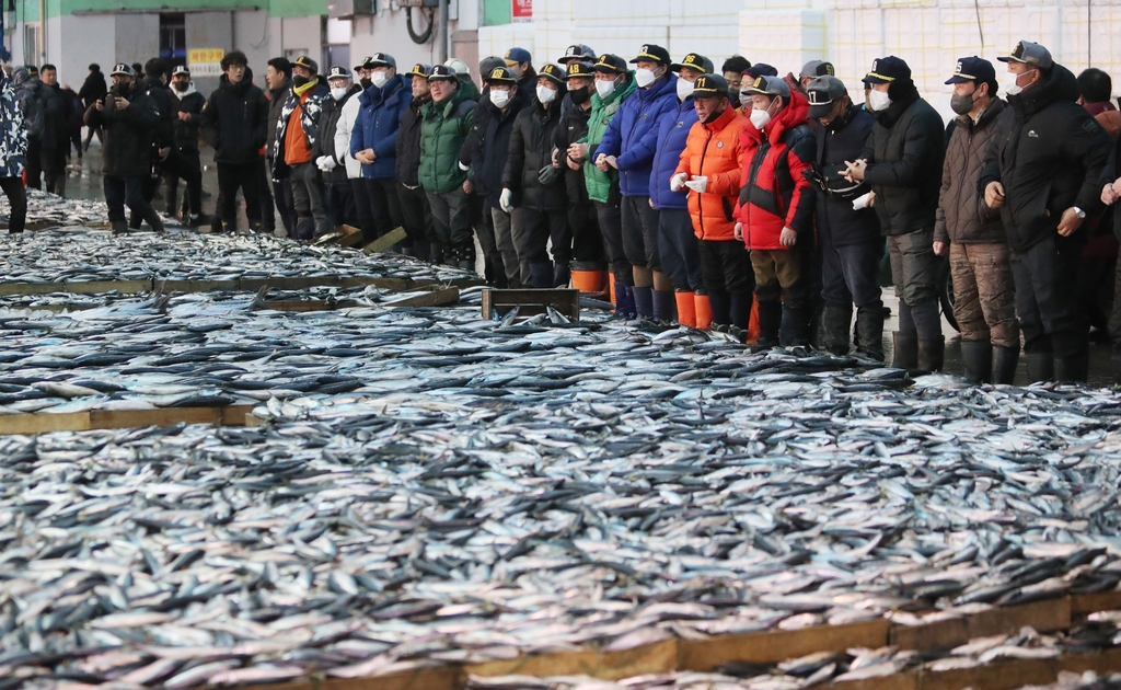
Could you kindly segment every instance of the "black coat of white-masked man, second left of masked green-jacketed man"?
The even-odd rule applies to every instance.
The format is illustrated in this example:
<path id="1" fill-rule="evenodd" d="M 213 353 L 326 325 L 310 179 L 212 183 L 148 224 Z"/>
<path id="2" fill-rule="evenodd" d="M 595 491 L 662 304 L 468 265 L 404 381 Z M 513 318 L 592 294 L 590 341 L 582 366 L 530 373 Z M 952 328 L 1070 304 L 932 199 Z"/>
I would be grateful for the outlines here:
<path id="1" fill-rule="evenodd" d="M 513 120 L 502 186 L 513 193 L 516 206 L 538 211 L 564 211 L 567 208 L 568 195 L 559 174 L 549 185 L 543 185 L 537 178 L 541 168 L 553 166 L 553 135 L 560 122 L 563 96 L 563 92 L 557 93 L 548 105 L 534 99 L 532 105 L 522 109 Z"/>

